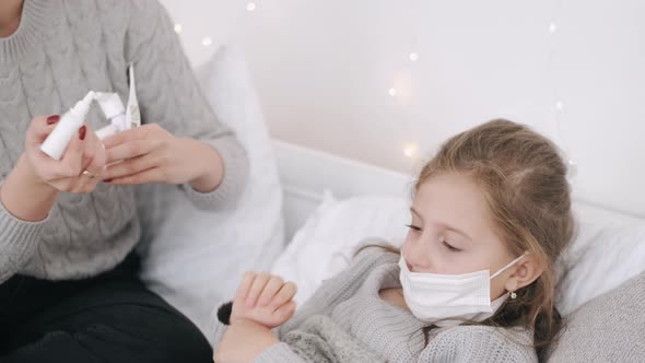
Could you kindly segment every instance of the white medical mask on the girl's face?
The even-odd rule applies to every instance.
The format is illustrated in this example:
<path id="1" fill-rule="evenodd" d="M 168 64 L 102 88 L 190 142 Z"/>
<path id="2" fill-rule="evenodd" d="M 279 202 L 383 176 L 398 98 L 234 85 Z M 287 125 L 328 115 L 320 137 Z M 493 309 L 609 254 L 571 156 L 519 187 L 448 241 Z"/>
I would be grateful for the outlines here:
<path id="1" fill-rule="evenodd" d="M 411 272 L 401 255 L 399 267 L 403 297 L 410 312 L 425 323 L 444 319 L 482 321 L 492 316 L 506 295 L 491 304 L 491 280 L 517 264 L 527 253 L 501 268 L 493 276 L 490 270 L 464 274 Z"/>

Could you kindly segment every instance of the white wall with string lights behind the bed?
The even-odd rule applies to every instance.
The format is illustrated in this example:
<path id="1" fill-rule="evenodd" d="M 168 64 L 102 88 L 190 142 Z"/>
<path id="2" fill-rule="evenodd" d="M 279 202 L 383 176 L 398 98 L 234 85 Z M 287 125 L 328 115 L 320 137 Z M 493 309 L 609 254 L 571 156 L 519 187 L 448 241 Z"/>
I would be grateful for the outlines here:
<path id="1" fill-rule="evenodd" d="M 162 2 L 195 65 L 242 47 L 278 139 L 410 172 L 407 142 L 503 116 L 570 154 L 584 199 L 645 215 L 645 1 Z"/>

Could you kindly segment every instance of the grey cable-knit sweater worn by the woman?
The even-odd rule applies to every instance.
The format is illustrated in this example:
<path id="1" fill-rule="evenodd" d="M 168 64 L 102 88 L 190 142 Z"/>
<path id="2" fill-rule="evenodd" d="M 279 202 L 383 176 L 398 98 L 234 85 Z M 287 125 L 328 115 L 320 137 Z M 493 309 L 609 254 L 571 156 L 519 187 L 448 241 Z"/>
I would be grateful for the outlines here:
<path id="1" fill-rule="evenodd" d="M 245 186 L 247 159 L 199 91 L 173 23 L 155 0 L 25 0 L 21 24 L 0 38 L 0 183 L 24 151 L 32 117 L 62 114 L 90 90 L 128 96 L 132 61 L 143 122 L 218 150 L 225 176 L 208 194 L 179 186 L 201 209 L 228 209 Z M 94 107 L 87 124 L 107 125 Z M 134 187 L 99 184 L 61 194 L 40 222 L 0 206 L 0 282 L 15 273 L 80 279 L 117 265 L 137 244 Z M 216 222 L 215 222 L 216 223 Z"/>

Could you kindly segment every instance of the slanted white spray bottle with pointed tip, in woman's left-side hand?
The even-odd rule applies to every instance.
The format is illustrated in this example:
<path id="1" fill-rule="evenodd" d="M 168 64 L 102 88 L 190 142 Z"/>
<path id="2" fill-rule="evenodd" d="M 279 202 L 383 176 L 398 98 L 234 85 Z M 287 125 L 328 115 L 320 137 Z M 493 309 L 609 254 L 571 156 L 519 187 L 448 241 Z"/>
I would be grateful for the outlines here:
<path id="1" fill-rule="evenodd" d="M 56 160 L 62 157 L 72 136 L 85 122 L 85 117 L 87 117 L 93 99 L 94 92 L 90 91 L 83 99 L 79 101 L 69 112 L 62 115 L 54 131 L 51 131 L 40 145 L 40 150 L 44 153 Z"/>

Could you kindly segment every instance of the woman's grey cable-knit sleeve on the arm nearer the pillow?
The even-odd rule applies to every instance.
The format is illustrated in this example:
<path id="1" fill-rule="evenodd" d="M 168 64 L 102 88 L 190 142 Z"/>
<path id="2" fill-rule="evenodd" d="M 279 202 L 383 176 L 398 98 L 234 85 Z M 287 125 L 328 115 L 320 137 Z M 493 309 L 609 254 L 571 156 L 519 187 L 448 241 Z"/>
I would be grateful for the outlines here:
<path id="1" fill-rule="evenodd" d="M 156 0 L 131 1 L 131 7 L 125 47 L 127 61 L 134 65 L 142 121 L 215 149 L 224 163 L 220 186 L 211 192 L 188 184 L 180 188 L 200 209 L 234 208 L 248 176 L 246 151 L 201 93 L 166 10 Z"/>

